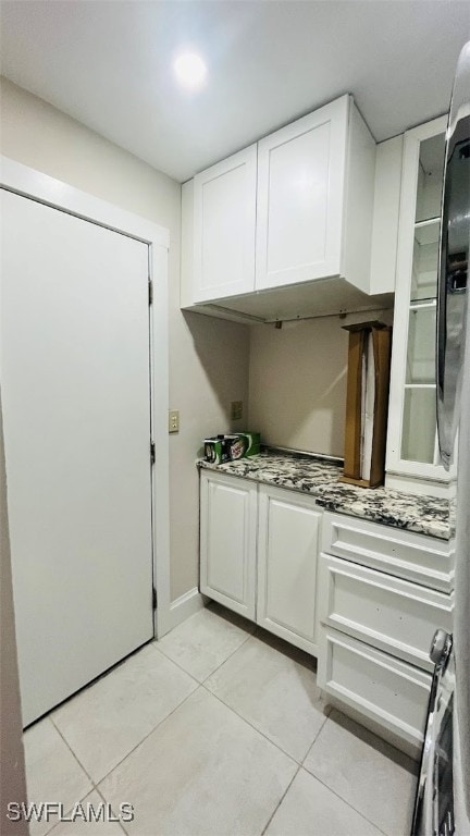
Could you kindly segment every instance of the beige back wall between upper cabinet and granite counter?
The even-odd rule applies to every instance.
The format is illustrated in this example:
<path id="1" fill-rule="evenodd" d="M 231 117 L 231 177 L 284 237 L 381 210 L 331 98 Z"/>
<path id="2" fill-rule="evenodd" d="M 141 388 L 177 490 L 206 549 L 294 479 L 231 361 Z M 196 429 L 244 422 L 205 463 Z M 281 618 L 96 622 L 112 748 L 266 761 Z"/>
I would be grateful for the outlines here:
<path id="1" fill-rule="evenodd" d="M 347 352 L 342 325 L 392 311 L 251 327 L 249 425 L 269 444 L 344 456 Z"/>

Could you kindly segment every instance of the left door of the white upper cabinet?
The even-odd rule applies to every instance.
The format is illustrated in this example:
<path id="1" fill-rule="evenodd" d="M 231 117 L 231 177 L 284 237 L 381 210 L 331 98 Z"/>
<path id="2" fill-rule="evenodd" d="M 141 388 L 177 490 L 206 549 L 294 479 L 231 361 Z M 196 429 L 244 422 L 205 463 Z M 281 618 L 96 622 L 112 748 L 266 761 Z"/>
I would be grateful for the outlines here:
<path id="1" fill-rule="evenodd" d="M 194 302 L 255 288 L 257 147 L 194 179 Z"/>

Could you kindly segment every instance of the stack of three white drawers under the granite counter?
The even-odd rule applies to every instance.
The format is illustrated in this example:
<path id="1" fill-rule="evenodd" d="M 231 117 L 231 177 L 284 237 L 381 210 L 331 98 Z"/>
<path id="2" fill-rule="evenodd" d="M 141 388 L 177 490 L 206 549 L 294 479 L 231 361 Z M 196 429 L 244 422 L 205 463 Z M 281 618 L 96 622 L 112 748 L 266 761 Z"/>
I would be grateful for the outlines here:
<path id="1" fill-rule="evenodd" d="M 452 631 L 452 558 L 445 541 L 324 515 L 318 685 L 410 754 L 423 740 L 434 632 Z"/>

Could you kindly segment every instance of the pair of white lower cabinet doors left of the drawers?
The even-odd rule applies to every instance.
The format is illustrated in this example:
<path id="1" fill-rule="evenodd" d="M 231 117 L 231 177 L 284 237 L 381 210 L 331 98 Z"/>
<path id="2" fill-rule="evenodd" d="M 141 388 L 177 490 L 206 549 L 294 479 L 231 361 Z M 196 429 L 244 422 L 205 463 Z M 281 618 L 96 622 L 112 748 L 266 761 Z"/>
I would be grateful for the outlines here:
<path id="1" fill-rule="evenodd" d="M 200 487 L 200 591 L 317 654 L 314 500 L 220 471 Z"/>

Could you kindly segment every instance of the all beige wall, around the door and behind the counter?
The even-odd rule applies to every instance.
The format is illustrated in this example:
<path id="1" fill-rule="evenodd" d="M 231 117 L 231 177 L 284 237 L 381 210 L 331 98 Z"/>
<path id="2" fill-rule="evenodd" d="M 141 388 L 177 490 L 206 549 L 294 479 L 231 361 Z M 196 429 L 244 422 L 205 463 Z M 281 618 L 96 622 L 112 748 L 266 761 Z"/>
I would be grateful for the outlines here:
<path id="1" fill-rule="evenodd" d="M 170 407 L 181 410 L 181 431 L 170 437 L 175 600 L 198 583 L 195 459 L 202 439 L 249 425 L 271 444 L 343 455 L 348 335 L 342 325 L 388 319 L 378 311 L 276 330 L 182 314 L 180 184 L 8 79 L 1 97 L 2 153 L 170 229 Z M 248 406 L 248 377 L 249 419 L 231 427 L 230 402 Z"/>

